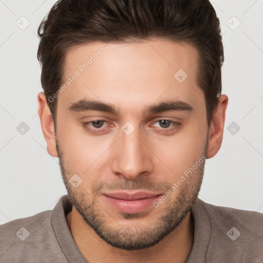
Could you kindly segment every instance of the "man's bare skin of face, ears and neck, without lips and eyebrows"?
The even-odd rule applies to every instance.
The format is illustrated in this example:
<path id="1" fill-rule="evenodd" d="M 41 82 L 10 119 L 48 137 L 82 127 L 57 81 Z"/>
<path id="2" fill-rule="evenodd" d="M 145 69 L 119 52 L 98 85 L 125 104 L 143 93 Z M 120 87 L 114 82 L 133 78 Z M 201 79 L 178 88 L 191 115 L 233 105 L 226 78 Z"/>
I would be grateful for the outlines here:
<path id="1" fill-rule="evenodd" d="M 73 204 L 68 227 L 88 262 L 186 262 L 194 240 L 190 209 L 204 162 L 158 208 L 151 205 L 142 213 L 119 212 L 103 193 L 122 188 L 163 195 L 202 156 L 214 157 L 222 142 L 228 97 L 219 97 L 208 125 L 196 82 L 197 50 L 160 39 L 74 47 L 66 55 L 65 80 L 98 49 L 98 59 L 58 97 L 56 133 L 45 95 L 38 96 L 47 151 L 60 158 Z M 178 69 L 188 75 L 182 83 L 174 78 Z M 112 104 L 119 115 L 68 109 L 82 99 Z M 146 107 L 170 100 L 186 102 L 193 110 L 142 114 Z M 96 134 L 92 123 L 83 126 L 96 120 L 106 120 Z M 159 120 L 180 125 L 164 127 Z M 135 128 L 129 135 L 121 129 L 127 121 Z M 73 174 L 82 179 L 77 188 L 68 181 Z"/>

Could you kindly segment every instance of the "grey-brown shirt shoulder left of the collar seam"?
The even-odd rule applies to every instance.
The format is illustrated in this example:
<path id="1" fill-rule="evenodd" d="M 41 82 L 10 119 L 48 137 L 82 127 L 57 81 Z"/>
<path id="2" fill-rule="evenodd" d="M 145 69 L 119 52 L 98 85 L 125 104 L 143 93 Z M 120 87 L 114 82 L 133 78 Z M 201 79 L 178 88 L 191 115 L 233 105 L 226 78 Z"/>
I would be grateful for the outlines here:
<path id="1" fill-rule="evenodd" d="M 52 223 L 52 211 L 12 220 L 0 226 L 1 262 L 50 262 L 46 255 L 58 253 Z"/>

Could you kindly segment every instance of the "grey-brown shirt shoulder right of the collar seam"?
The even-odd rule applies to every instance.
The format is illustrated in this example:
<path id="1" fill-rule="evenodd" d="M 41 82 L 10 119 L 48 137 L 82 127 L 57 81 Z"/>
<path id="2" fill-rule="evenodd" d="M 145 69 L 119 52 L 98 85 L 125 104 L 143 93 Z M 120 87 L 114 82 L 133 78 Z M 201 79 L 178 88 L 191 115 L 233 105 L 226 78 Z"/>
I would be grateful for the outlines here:
<path id="1" fill-rule="evenodd" d="M 263 261 L 263 214 L 198 200 L 198 207 L 209 217 L 211 262 Z"/>

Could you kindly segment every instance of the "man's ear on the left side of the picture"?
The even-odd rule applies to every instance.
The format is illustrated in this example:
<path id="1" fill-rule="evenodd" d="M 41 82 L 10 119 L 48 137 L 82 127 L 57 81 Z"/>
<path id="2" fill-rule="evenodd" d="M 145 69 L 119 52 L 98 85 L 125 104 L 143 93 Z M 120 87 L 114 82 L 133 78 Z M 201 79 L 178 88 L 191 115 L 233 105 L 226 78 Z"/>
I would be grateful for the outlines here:
<path id="1" fill-rule="evenodd" d="M 39 118 L 41 122 L 42 132 L 47 142 L 47 151 L 53 157 L 58 157 L 57 147 L 55 143 L 54 120 L 49 110 L 46 96 L 43 92 L 37 95 L 39 102 Z"/>

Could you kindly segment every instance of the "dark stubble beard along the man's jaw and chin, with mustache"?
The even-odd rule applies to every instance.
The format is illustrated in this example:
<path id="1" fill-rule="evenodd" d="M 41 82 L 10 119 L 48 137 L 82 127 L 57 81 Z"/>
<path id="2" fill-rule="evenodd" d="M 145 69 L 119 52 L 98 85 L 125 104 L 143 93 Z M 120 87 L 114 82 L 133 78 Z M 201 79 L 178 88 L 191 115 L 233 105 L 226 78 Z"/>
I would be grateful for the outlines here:
<path id="1" fill-rule="evenodd" d="M 204 155 L 207 149 L 207 141 L 204 147 Z M 176 190 L 176 199 L 169 200 L 162 203 L 160 208 L 160 216 L 156 218 L 151 226 L 145 227 L 140 223 L 134 226 L 134 224 L 127 223 L 125 225 L 116 222 L 116 227 L 109 226 L 108 219 L 112 219 L 109 214 L 105 212 L 102 206 L 97 201 L 97 193 L 102 189 L 103 185 L 107 183 L 98 183 L 96 187 L 93 187 L 91 194 L 92 200 L 90 200 L 90 194 L 86 192 L 82 187 L 77 189 L 72 187 L 69 183 L 69 178 L 74 174 L 69 168 L 66 167 L 67 161 L 64 159 L 64 154 L 61 151 L 59 142 L 57 141 L 57 151 L 59 155 L 59 163 L 62 178 L 66 186 L 68 197 L 71 205 L 79 212 L 88 226 L 93 229 L 100 238 L 112 247 L 123 250 L 141 250 L 152 247 L 160 242 L 165 236 L 178 228 L 180 223 L 191 212 L 191 208 L 198 197 L 200 191 L 204 163 L 203 161 L 198 168 L 192 173 Z M 161 184 L 152 181 L 148 181 L 143 178 L 137 178 L 132 182 L 123 180 L 115 180 L 114 184 L 110 184 L 110 189 L 122 189 L 122 190 L 153 190 L 160 189 L 159 185 L 162 185 L 161 190 L 168 190 L 171 188 L 171 183 L 161 182 Z M 143 186 L 143 188 L 142 188 Z M 108 189 L 108 188 L 107 188 Z M 173 194 L 170 196 L 173 198 Z M 88 201 L 89 200 L 89 201 Z M 167 202 L 167 204 L 166 204 Z M 139 218 L 140 214 L 122 214 L 125 219 Z"/>

